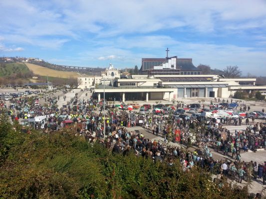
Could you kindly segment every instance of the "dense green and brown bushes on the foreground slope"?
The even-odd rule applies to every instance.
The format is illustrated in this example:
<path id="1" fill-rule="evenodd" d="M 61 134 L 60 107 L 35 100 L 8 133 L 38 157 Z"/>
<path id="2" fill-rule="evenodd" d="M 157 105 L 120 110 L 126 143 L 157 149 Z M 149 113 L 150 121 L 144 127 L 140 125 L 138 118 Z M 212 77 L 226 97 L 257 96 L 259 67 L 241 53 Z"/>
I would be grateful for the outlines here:
<path id="1" fill-rule="evenodd" d="M 72 132 L 20 132 L 0 118 L 0 198 L 248 199 L 248 190 L 212 183 L 207 172 L 184 172 L 133 153 L 109 153 Z"/>

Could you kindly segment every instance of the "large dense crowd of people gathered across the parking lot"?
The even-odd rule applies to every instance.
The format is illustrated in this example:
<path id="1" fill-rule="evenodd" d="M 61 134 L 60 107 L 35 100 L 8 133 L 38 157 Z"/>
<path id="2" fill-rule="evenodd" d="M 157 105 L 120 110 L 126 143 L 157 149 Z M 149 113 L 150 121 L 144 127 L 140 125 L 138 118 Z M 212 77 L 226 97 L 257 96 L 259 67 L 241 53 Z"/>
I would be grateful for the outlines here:
<path id="1" fill-rule="evenodd" d="M 266 183 L 266 162 L 258 164 L 241 160 L 243 152 L 256 152 L 266 147 L 266 127 L 263 123 L 248 125 L 244 131 L 230 132 L 225 127 L 230 123 L 226 119 L 218 123 L 216 120 L 207 122 L 191 117 L 138 114 L 132 119 L 129 111 L 117 110 L 113 103 L 106 103 L 104 115 L 103 100 L 79 99 L 78 94 L 63 107 L 57 106 L 56 98 L 48 98 L 47 101 L 47 105 L 34 105 L 30 98 L 25 97 L 11 100 L 8 106 L 1 101 L 0 111 L 9 115 L 12 121 L 46 115 L 48 124 L 58 125 L 56 130 L 66 127 L 64 121 L 71 119 L 70 128 L 76 136 L 83 136 L 92 144 L 99 142 L 110 153 L 126 155 L 133 152 L 155 163 L 165 161 L 169 166 L 178 160 L 184 171 L 199 166 L 217 174 L 218 178 L 229 176 L 240 183 L 243 179 L 263 178 L 263 184 Z M 186 104 L 178 103 L 178 107 L 186 107 Z M 48 124 L 42 129 L 44 133 L 55 130 Z M 128 126 L 135 125 L 162 136 L 164 141 L 147 139 L 142 133 L 127 130 Z M 180 133 L 176 133 L 177 130 Z M 193 152 L 185 150 L 193 145 L 197 148 Z M 230 161 L 214 160 L 213 151 Z"/>

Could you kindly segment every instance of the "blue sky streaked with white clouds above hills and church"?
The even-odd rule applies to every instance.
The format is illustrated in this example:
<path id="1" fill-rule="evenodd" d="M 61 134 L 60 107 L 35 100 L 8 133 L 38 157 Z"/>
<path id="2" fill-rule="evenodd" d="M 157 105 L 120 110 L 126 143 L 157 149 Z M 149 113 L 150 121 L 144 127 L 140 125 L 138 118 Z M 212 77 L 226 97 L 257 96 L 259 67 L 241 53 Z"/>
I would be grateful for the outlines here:
<path id="1" fill-rule="evenodd" d="M 192 58 L 266 76 L 266 0 L 2 0 L 0 56 L 140 67 L 141 58 Z"/>

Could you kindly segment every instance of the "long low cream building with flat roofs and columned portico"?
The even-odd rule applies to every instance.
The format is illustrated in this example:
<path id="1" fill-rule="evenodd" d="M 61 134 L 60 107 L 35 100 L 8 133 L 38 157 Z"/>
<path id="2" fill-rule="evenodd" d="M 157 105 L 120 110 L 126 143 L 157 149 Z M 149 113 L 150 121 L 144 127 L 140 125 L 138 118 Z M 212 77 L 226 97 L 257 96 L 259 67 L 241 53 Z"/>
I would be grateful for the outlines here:
<path id="1" fill-rule="evenodd" d="M 236 91 L 266 91 L 256 86 L 256 79 L 225 79 L 218 75 L 132 75 L 105 84 L 106 99 L 168 100 L 179 98 L 229 98 Z M 95 87 L 98 99 L 103 98 L 103 85 Z"/>

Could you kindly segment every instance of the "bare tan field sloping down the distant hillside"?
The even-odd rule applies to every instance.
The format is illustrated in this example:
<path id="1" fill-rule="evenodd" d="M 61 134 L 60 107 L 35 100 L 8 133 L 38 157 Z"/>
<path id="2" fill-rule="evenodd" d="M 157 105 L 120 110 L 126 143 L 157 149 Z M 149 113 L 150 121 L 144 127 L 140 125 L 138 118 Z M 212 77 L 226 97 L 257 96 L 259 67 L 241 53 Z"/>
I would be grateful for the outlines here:
<path id="1" fill-rule="evenodd" d="M 80 77 L 80 75 L 76 72 L 56 71 L 53 69 L 45 68 L 30 63 L 25 63 L 25 65 L 28 67 L 30 71 L 39 76 L 48 76 L 48 77 L 65 78 L 65 79 Z"/>

